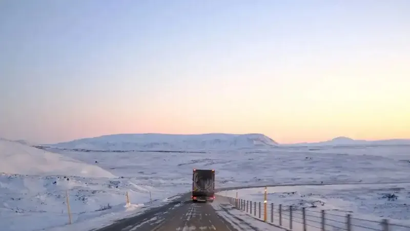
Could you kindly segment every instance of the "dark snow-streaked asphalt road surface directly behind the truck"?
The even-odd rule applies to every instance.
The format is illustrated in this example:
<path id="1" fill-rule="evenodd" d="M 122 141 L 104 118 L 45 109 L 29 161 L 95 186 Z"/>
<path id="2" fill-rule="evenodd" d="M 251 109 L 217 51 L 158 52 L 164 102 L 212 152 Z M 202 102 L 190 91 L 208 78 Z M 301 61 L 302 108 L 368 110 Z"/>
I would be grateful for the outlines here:
<path id="1" fill-rule="evenodd" d="M 186 194 L 170 204 L 122 219 L 97 231 L 237 230 L 210 203 L 192 203 Z M 214 202 L 215 203 L 215 202 Z"/>

